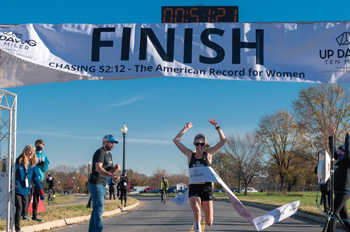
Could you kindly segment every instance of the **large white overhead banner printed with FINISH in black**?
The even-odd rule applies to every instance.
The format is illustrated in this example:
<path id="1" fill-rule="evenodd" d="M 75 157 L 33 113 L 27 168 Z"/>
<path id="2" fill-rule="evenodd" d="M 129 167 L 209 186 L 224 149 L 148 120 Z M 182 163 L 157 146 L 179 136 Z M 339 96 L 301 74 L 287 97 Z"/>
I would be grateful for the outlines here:
<path id="1" fill-rule="evenodd" d="M 350 82 L 350 22 L 21 24 L 0 28 L 0 88 L 159 76 Z"/>

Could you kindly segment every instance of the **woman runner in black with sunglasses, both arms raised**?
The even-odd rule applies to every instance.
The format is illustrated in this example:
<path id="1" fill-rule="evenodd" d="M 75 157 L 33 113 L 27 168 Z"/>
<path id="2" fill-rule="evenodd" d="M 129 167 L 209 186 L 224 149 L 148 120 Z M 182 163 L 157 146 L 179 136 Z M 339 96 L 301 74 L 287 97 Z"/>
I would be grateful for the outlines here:
<path id="1" fill-rule="evenodd" d="M 210 147 L 204 135 L 198 134 L 195 136 L 193 145 L 196 150 L 193 152 L 183 145 L 180 140 L 185 132 L 192 127 L 192 123 L 187 123 L 184 128 L 174 138 L 175 145 L 179 150 L 187 156 L 188 166 L 200 167 L 200 166 L 211 166 L 213 154 L 218 152 L 222 146 L 226 143 L 226 138 L 222 132 L 219 124 L 215 119 L 208 120 L 212 124 L 219 134 L 220 141 L 214 146 Z M 194 215 L 193 229 L 195 232 L 201 232 L 201 209 L 204 211 L 205 222 L 208 226 L 213 225 L 213 202 L 212 202 L 212 184 L 211 182 L 190 184 L 189 187 L 189 198 L 190 205 Z"/>

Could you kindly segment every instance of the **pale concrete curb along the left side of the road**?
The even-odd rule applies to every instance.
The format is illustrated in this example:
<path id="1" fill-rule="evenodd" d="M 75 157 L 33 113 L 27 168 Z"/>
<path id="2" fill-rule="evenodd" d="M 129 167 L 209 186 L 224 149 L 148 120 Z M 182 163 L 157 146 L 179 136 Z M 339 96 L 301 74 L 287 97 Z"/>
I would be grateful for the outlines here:
<path id="1" fill-rule="evenodd" d="M 118 209 L 111 210 L 108 212 L 104 212 L 103 217 L 116 216 L 122 212 L 134 209 L 139 205 L 140 205 L 140 201 L 137 201 L 133 205 L 123 207 L 123 208 L 118 208 Z M 42 231 L 42 230 L 53 230 L 53 229 L 57 229 L 60 227 L 74 225 L 74 224 L 78 224 L 78 223 L 89 221 L 89 220 L 90 220 L 90 215 L 79 216 L 79 217 L 74 217 L 74 218 L 66 218 L 66 219 L 60 219 L 60 220 L 56 220 L 56 221 L 52 221 L 52 222 L 44 222 L 44 223 L 40 223 L 37 225 L 24 226 L 24 227 L 21 227 L 21 231 L 23 231 L 23 232 L 37 232 L 37 231 Z M 6 231 L 3 230 L 1 232 L 6 232 Z"/>

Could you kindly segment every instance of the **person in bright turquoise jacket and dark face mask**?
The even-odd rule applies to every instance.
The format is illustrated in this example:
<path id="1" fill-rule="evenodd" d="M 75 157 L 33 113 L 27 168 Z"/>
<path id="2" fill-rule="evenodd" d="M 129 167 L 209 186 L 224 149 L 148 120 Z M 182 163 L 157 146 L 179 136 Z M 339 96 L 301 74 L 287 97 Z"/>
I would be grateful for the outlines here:
<path id="1" fill-rule="evenodd" d="M 37 141 L 35 141 L 35 154 L 36 154 L 36 161 L 37 161 L 37 169 L 38 169 L 38 179 L 40 180 L 40 183 L 43 182 L 43 180 L 45 179 L 45 172 L 47 170 L 49 170 L 49 159 L 47 158 L 47 155 L 44 153 L 44 146 L 45 143 L 43 140 L 38 139 Z M 22 216 L 23 220 L 30 220 L 29 217 L 27 216 L 28 213 L 28 207 L 29 207 L 29 203 L 30 200 L 33 196 L 33 215 L 32 215 L 32 219 L 38 222 L 42 222 L 43 220 L 38 218 L 37 216 L 37 210 L 38 210 L 38 204 L 39 204 L 39 194 L 37 191 L 35 191 L 35 183 L 33 183 L 32 185 L 32 189 L 30 191 L 30 195 L 29 195 L 29 199 L 28 202 L 26 204 L 26 214 Z"/>

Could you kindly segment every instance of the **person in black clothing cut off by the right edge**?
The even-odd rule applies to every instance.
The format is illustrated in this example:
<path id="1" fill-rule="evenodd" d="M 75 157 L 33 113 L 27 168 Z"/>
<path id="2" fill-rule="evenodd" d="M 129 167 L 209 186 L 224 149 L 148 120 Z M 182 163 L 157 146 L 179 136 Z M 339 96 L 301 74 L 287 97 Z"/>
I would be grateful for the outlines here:
<path id="1" fill-rule="evenodd" d="M 333 137 L 336 129 L 330 129 L 329 147 L 333 147 Z M 350 198 L 350 130 L 346 133 L 345 144 L 338 148 L 338 161 L 334 164 L 334 215 L 340 215 L 341 219 L 349 220 L 346 202 Z M 350 231 L 350 222 L 343 221 Z M 335 231 L 336 223 L 331 219 L 332 231 Z"/>

